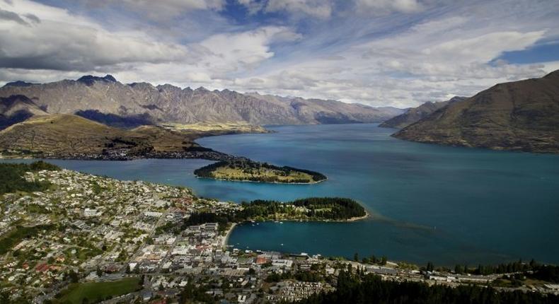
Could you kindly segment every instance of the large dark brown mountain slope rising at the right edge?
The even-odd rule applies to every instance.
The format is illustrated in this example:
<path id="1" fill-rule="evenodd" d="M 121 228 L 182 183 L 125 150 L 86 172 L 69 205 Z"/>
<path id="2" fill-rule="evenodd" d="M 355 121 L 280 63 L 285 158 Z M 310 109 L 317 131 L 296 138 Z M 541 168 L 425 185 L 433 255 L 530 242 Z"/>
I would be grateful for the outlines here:
<path id="1" fill-rule="evenodd" d="M 451 146 L 559 153 L 559 70 L 500 83 L 394 134 Z"/>

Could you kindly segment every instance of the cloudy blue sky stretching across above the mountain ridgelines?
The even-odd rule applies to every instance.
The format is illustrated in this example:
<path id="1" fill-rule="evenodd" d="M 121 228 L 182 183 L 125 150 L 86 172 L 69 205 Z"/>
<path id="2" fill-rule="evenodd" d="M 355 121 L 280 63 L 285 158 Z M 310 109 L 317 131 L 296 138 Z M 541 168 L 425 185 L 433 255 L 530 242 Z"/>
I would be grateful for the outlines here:
<path id="1" fill-rule="evenodd" d="M 413 107 L 559 69 L 559 0 L 0 0 L 0 84 L 122 83 Z"/>

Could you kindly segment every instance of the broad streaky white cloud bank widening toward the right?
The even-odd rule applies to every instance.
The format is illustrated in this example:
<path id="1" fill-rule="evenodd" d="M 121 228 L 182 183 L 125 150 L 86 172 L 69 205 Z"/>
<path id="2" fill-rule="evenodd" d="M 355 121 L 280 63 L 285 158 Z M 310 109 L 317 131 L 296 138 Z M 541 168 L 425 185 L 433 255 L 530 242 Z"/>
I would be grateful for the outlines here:
<path id="1" fill-rule="evenodd" d="M 454 24 L 460 27 L 464 22 Z M 411 28 L 343 49 L 335 57 L 340 60 L 328 56 L 306 59 L 276 66 L 278 69 L 258 77 L 238 78 L 234 84 L 282 95 L 408 107 L 453 95 L 473 95 L 497 82 L 543 76 L 551 71 L 545 64 L 490 63 L 502 52 L 534 45 L 544 37 L 545 30 L 485 35 L 473 30 L 456 39 L 452 33 L 441 35 L 427 28 Z"/>

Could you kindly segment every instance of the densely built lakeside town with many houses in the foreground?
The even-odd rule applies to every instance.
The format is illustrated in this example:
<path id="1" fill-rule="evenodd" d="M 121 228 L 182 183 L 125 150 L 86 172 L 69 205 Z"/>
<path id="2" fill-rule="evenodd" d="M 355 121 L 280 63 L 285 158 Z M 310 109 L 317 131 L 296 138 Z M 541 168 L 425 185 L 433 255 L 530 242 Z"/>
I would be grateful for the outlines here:
<path id="1" fill-rule="evenodd" d="M 559 293 L 553 283 L 495 284 L 518 271 L 458 274 L 386 258 L 233 248 L 227 237 L 235 223 L 188 219 L 235 214 L 243 205 L 198 198 L 185 187 L 62 169 L 24 178 L 49 187 L 0 196 L 0 292 L 8 303 L 284 303 L 334 291 L 345 269 L 390 281 Z"/>

